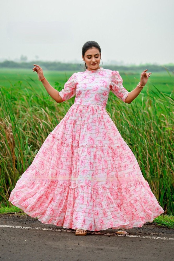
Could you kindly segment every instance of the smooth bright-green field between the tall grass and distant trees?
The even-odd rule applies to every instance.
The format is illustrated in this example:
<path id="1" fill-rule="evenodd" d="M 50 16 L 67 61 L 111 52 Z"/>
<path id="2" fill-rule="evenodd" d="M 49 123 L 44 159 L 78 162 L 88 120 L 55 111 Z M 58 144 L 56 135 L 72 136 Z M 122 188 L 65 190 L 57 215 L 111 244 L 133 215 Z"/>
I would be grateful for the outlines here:
<path id="1" fill-rule="evenodd" d="M 148 71 L 149 72 L 149 71 Z M 66 79 L 74 73 L 74 71 L 67 71 L 67 72 L 60 72 L 60 71 L 45 71 L 44 76 L 47 78 L 49 83 L 56 87 L 55 83 L 59 82 L 62 87 L 63 83 L 65 83 Z M 128 91 L 132 91 L 140 81 L 140 73 L 141 72 L 121 72 L 119 71 L 121 77 L 123 78 L 123 85 Z M 33 82 L 34 81 L 34 82 Z M 28 83 L 35 87 L 38 86 L 38 76 L 36 72 L 28 69 L 0 69 L 0 86 L 5 86 L 6 88 L 10 88 L 11 84 L 16 84 L 18 86 L 21 85 L 27 87 Z M 142 93 L 146 94 L 147 87 L 149 88 L 149 92 L 158 93 L 155 87 L 158 88 L 158 91 L 171 94 L 173 92 L 174 86 L 174 75 L 169 72 L 162 72 L 156 73 L 152 72 L 150 78 L 148 79 L 148 83 L 146 88 L 141 91 L 140 96 Z M 40 86 L 43 86 L 40 84 Z M 44 87 L 43 87 L 44 88 Z M 47 92 L 46 92 L 47 94 Z M 136 98 L 139 99 L 139 96 Z"/>

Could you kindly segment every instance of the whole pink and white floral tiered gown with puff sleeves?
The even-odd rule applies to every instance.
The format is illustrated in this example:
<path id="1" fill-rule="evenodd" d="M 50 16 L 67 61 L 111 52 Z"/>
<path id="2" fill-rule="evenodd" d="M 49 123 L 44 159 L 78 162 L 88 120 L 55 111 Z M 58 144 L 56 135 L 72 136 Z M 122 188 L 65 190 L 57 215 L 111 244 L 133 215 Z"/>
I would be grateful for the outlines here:
<path id="1" fill-rule="evenodd" d="M 45 139 L 9 201 L 42 223 L 86 230 L 130 229 L 164 212 L 106 111 L 125 102 L 118 71 L 73 73 L 59 92 L 74 104 Z"/>

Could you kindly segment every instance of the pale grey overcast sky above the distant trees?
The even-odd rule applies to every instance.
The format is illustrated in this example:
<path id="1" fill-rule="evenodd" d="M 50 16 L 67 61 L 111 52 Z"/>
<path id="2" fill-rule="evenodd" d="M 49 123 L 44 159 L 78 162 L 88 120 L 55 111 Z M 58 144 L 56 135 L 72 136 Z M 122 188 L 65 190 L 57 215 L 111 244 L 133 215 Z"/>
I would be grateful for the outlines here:
<path id="1" fill-rule="evenodd" d="M 174 63 L 173 0 L 1 0 L 0 10 L 1 61 L 80 63 L 83 44 L 94 40 L 103 66 Z"/>

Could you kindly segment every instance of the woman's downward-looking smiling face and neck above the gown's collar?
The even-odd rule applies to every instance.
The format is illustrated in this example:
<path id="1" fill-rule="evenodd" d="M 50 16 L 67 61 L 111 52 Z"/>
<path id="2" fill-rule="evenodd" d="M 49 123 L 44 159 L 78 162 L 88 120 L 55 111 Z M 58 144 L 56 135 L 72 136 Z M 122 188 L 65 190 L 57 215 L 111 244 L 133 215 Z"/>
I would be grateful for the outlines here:
<path id="1" fill-rule="evenodd" d="M 83 61 L 85 61 L 86 65 L 88 66 L 88 70 L 97 70 L 100 69 L 100 59 L 101 55 L 97 48 L 92 47 L 85 52 L 85 56 L 82 55 Z M 95 63 L 95 64 L 92 64 Z"/>

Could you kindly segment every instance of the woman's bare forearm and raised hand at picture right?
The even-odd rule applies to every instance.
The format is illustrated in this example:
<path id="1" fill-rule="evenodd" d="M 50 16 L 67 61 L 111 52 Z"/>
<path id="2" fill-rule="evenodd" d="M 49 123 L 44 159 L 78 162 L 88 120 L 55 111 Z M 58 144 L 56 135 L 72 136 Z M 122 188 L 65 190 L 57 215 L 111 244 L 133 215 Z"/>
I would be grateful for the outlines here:
<path id="1" fill-rule="evenodd" d="M 150 77 L 150 74 L 152 73 L 146 73 L 147 69 L 144 70 L 142 73 L 141 73 L 141 78 L 140 78 L 140 85 L 141 86 L 145 86 L 146 83 L 147 83 L 147 80 L 148 78 Z M 126 103 L 131 103 L 132 100 L 134 100 L 138 94 L 140 94 L 140 92 L 142 91 L 143 88 L 139 87 L 137 85 L 137 87 L 135 87 L 134 90 L 132 90 L 131 92 L 128 93 L 126 99 L 125 99 L 125 102 Z"/>

